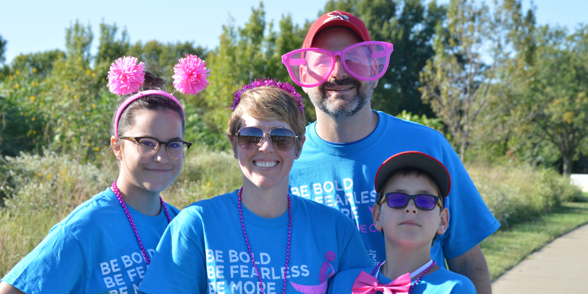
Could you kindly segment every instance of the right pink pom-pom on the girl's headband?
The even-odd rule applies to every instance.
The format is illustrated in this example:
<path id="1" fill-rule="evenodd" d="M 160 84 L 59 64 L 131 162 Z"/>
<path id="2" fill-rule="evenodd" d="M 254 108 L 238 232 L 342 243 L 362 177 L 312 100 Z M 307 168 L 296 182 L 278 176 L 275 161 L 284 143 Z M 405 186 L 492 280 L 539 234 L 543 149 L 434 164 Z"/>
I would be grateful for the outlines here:
<path id="1" fill-rule="evenodd" d="M 173 66 L 173 88 L 184 94 L 196 95 L 196 93 L 206 89 L 208 81 L 206 77 L 208 69 L 206 69 L 206 63 L 198 58 L 196 55 L 186 54 L 185 58 L 181 58 Z"/>

